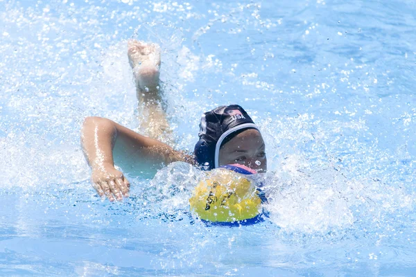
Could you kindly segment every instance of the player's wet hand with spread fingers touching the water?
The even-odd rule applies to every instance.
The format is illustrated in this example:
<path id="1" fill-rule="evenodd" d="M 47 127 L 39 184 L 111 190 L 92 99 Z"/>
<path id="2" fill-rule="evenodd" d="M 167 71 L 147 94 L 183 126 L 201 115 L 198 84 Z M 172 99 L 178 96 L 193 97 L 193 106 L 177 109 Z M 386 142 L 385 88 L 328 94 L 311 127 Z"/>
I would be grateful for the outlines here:
<path id="1" fill-rule="evenodd" d="M 129 181 L 125 179 L 123 172 L 110 164 L 92 168 L 91 181 L 98 195 L 105 195 L 111 202 L 114 201 L 114 197 L 117 201 L 123 200 L 123 196 L 128 197 Z"/>

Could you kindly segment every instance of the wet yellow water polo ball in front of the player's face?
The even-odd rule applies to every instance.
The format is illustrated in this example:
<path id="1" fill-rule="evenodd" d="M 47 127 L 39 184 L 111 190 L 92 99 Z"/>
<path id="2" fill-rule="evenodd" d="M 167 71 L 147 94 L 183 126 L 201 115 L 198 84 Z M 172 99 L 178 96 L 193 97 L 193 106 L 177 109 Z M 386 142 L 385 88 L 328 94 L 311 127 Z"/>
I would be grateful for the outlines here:
<path id="1" fill-rule="evenodd" d="M 248 220 L 261 213 L 261 199 L 254 182 L 245 175 L 219 168 L 198 183 L 191 199 L 191 211 L 210 222 Z"/>

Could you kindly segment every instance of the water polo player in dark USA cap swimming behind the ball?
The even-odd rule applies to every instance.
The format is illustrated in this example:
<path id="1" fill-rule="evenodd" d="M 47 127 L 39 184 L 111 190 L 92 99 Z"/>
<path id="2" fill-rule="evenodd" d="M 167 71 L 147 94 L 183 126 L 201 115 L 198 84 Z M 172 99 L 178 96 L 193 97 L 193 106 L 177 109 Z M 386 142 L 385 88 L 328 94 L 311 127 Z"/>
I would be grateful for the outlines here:
<path id="1" fill-rule="evenodd" d="M 171 129 L 159 95 L 160 51 L 155 44 L 131 41 L 128 56 L 137 84 L 137 98 L 143 108 L 141 127 L 146 136 L 107 118 L 85 118 L 81 143 L 92 169 L 92 184 L 98 195 L 114 201 L 128 197 L 130 184 L 114 168 L 114 160 L 126 168 L 142 163 L 150 169 L 184 161 L 204 170 L 227 164 L 241 164 L 266 172 L 263 138 L 252 118 L 239 105 L 221 106 L 203 114 L 200 140 L 193 155 L 168 145 Z"/>

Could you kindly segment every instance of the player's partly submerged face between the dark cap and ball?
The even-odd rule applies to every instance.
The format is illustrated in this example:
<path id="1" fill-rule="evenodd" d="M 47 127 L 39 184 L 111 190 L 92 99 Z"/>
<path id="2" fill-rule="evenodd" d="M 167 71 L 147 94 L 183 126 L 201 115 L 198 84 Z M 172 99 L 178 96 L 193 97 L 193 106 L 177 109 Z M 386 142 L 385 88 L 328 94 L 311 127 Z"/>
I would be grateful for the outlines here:
<path id="1" fill-rule="evenodd" d="M 259 172 L 266 172 L 266 145 L 257 129 L 237 134 L 220 148 L 220 166 L 239 163 Z"/>

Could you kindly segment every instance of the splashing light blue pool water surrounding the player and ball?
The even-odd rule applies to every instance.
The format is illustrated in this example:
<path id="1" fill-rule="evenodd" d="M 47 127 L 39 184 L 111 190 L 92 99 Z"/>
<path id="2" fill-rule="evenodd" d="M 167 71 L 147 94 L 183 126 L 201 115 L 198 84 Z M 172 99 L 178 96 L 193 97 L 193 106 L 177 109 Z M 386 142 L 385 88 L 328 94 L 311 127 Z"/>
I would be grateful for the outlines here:
<path id="1" fill-rule="evenodd" d="M 415 28 L 410 0 L 0 0 L 0 276 L 415 276 Z M 96 197 L 80 125 L 137 129 L 129 38 L 162 47 L 176 148 L 216 105 L 259 124 L 264 222 L 195 220 L 183 163 Z"/>

